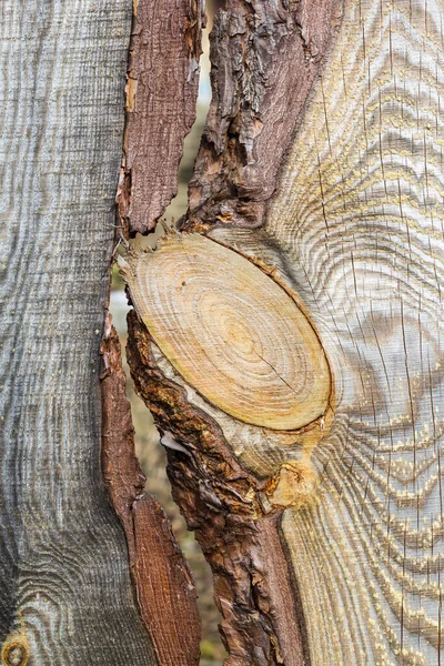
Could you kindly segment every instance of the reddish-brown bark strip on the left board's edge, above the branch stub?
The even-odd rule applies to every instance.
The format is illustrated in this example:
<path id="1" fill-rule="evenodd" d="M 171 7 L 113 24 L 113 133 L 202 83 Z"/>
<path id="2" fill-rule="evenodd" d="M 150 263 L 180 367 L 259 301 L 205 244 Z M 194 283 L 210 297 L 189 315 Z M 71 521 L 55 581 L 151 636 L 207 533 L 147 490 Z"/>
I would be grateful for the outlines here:
<path id="1" fill-rule="evenodd" d="M 176 194 L 183 140 L 195 119 L 203 22 L 201 0 L 134 0 L 118 192 L 130 235 L 152 231 Z"/>

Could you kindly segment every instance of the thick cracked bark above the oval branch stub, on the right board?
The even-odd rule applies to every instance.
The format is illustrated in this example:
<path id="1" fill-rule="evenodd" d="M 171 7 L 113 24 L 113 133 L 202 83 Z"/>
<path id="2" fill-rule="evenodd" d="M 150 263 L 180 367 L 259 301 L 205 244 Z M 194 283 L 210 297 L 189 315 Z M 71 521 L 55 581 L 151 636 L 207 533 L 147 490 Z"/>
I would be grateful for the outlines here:
<path id="1" fill-rule="evenodd" d="M 211 33 L 212 102 L 184 228 L 260 226 L 340 0 L 228 0 Z"/>

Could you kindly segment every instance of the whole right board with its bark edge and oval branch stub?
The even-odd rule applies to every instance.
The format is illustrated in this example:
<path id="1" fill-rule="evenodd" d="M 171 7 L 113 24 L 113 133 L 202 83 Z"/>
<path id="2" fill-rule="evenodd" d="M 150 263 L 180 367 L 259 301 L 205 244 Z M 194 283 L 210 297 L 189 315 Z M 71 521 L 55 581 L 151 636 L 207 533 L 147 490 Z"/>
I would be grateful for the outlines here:
<path id="1" fill-rule="evenodd" d="M 443 658 L 443 16 L 228 1 L 189 214 L 123 263 L 230 666 Z"/>

